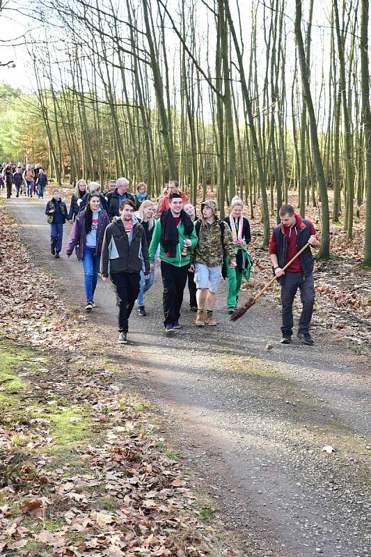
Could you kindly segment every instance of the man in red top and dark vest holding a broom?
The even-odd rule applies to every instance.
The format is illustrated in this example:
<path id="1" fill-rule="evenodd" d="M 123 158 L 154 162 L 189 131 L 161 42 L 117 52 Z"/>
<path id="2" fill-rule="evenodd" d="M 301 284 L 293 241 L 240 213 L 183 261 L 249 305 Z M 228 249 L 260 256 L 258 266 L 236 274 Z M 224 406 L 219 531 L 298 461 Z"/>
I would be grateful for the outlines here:
<path id="1" fill-rule="evenodd" d="M 313 255 L 310 247 L 294 260 L 285 272 L 282 268 L 289 262 L 298 251 L 309 243 L 310 246 L 319 246 L 313 223 L 301 219 L 300 214 L 295 213 L 292 205 L 283 205 L 279 212 L 281 224 L 274 227 L 269 240 L 269 256 L 273 266 L 273 272 L 281 284 L 282 302 L 282 344 L 290 344 L 294 320 L 292 317 L 292 304 L 297 289 L 300 290 L 303 309 L 299 319 L 299 330 L 297 336 L 304 344 L 313 345 L 309 334 L 310 320 L 312 319 L 313 304 L 315 301 L 315 287 L 313 278 Z"/>

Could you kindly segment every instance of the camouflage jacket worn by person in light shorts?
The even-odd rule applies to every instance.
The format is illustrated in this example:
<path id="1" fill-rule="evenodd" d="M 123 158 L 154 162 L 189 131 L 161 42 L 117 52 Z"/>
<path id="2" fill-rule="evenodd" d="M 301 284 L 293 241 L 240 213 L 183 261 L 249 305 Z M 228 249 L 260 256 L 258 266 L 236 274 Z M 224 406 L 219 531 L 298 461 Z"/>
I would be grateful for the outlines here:
<path id="1" fill-rule="evenodd" d="M 223 245 L 224 253 L 230 262 L 235 261 L 235 249 L 229 226 L 224 225 L 222 244 L 220 221 L 215 220 L 212 225 L 208 226 L 207 222 L 202 219 L 198 243 L 194 250 L 194 261 L 196 263 L 203 263 L 207 267 L 223 265 Z"/>

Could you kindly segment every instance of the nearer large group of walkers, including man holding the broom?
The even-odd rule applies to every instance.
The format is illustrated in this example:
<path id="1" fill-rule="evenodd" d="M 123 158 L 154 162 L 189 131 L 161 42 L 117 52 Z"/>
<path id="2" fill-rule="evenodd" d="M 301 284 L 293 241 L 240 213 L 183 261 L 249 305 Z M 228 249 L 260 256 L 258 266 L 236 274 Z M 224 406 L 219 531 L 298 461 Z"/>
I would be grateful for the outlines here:
<path id="1" fill-rule="evenodd" d="M 242 200 L 233 198 L 229 216 L 221 220 L 214 200 L 201 203 L 198 217 L 195 207 L 175 180 L 166 187 L 156 206 L 143 182 L 134 194 L 128 189 L 126 178 L 111 180 L 104 193 L 98 182 L 90 182 L 88 186 L 84 180 L 79 180 L 70 210 L 58 189 L 53 190 L 52 199 L 45 208 L 50 224 L 50 249 L 56 258 L 61 253 L 63 224 L 65 221 L 72 223 L 66 253 L 70 258 L 75 251 L 84 266 L 86 311 L 95 307 L 99 274 L 104 282 L 110 279 L 118 305 L 118 342 L 126 344 L 135 301 L 139 315 L 144 317 L 145 292 L 153 284 L 155 268 L 160 267 L 166 334 L 174 334 L 182 327 L 180 312 L 187 281 L 189 305 L 196 312 L 196 327 L 216 326 L 214 307 L 222 277 L 227 280 L 228 312 L 234 313 L 242 278 L 248 280 L 252 265 L 248 253 L 250 225 L 243 216 Z M 319 241 L 313 224 L 301 219 L 291 205 L 281 207 L 280 217 L 281 224 L 271 235 L 269 255 L 282 287 L 281 343 L 291 342 L 292 304 L 299 289 L 303 311 L 298 336 L 303 343 L 311 345 L 309 329 L 314 281 L 310 247 L 285 272 L 283 267 L 301 247 L 307 243 L 315 247 Z"/>

